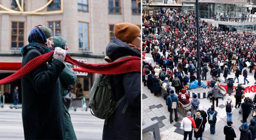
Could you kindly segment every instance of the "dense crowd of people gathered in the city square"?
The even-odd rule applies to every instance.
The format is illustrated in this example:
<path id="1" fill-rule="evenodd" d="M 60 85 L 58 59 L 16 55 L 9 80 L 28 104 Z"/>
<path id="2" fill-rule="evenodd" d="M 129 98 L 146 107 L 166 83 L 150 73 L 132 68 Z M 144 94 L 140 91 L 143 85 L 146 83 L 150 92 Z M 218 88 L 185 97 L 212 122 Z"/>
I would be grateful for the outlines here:
<path id="1" fill-rule="evenodd" d="M 199 138 L 202 140 L 207 120 L 210 124 L 211 134 L 215 134 L 218 112 L 215 111 L 214 101 L 216 100 L 216 107 L 218 107 L 218 98 L 222 92 L 219 86 L 220 77 L 224 77 L 224 83 L 228 85 L 225 92 L 229 94 L 226 102 L 228 123 L 224 127 L 224 134 L 226 140 L 234 140 L 236 135 L 232 128 L 232 110 L 234 107 L 239 108 L 240 106 L 243 110 L 252 107 L 248 98 L 245 98 L 244 103 L 242 103 L 242 98 L 245 90 L 243 85 L 250 82 L 247 80 L 247 68 L 249 68 L 249 73 L 254 72 L 256 80 L 256 46 L 254 42 L 256 34 L 224 32 L 211 23 L 199 19 L 199 46 L 201 49 L 198 58 L 194 13 L 177 13 L 167 10 L 164 14 L 143 14 L 142 22 L 144 29 L 142 51 L 151 53 L 153 61 L 156 62 L 156 65 L 152 65 L 150 61 L 143 60 L 142 82 L 151 93 L 154 93 L 154 96 L 159 97 L 161 92 L 164 93 L 171 123 L 173 122 L 173 112 L 175 113 L 174 120 L 178 121 L 178 107 L 191 106 L 191 112 L 188 112 L 187 117 L 183 118 L 181 122 L 181 128 L 184 128 L 184 140 L 187 135 L 189 135 L 189 140 L 192 140 L 192 128 L 194 128 L 196 140 Z M 197 68 L 198 59 L 200 68 Z M 235 73 L 235 77 L 231 77 L 231 72 Z M 209 74 L 211 79 L 206 78 Z M 244 78 L 243 84 L 240 84 L 238 79 L 241 75 Z M 192 83 L 199 77 L 202 80 L 208 80 L 207 85 L 212 87 L 209 93 L 212 94 L 213 105 L 207 111 L 204 111 L 200 105 L 196 94 L 190 97 L 185 91 L 187 83 Z M 234 89 L 236 79 L 236 83 L 239 84 Z M 231 94 L 235 95 L 235 105 L 232 102 Z M 242 115 L 242 126 L 239 128 L 241 138 L 249 139 L 241 140 L 255 140 L 255 120 L 251 120 L 251 124 L 248 126 L 247 110 L 243 111 Z"/>

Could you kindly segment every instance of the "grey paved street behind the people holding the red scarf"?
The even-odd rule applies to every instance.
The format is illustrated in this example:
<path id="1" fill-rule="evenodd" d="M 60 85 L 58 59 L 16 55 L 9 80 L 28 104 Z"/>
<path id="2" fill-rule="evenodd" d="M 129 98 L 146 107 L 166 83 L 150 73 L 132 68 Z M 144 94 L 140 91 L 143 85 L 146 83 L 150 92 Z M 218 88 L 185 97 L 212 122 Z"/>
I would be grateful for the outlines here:
<path id="1" fill-rule="evenodd" d="M 101 140 L 103 119 L 92 116 L 78 108 L 70 111 L 72 124 L 78 140 Z M 0 140 L 24 140 L 21 109 L 10 109 L 9 105 L 0 108 Z"/>

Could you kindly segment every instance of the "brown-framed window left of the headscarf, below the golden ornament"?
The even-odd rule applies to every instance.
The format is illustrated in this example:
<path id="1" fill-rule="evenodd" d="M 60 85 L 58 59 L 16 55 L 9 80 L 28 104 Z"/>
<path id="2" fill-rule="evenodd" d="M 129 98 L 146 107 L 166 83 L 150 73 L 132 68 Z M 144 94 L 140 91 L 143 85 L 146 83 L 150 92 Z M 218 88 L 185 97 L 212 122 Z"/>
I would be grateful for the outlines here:
<path id="1" fill-rule="evenodd" d="M 24 46 L 24 22 L 12 22 L 11 47 L 21 48 Z"/>

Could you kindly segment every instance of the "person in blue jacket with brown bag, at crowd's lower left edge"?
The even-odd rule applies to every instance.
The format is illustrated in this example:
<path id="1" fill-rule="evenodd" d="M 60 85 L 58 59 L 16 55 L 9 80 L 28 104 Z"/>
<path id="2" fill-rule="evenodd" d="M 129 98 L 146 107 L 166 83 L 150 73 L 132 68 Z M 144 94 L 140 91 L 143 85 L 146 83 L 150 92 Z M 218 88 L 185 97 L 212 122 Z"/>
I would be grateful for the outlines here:
<path id="1" fill-rule="evenodd" d="M 168 105 L 168 110 L 170 111 L 170 123 L 172 123 L 173 122 L 173 119 L 172 119 L 173 110 L 174 110 L 174 114 L 175 114 L 175 121 L 176 122 L 178 121 L 177 106 L 179 107 L 180 105 L 179 105 L 178 97 L 174 94 L 174 91 L 168 87 L 167 93 L 170 93 L 170 91 L 171 91 L 171 94 L 166 99 L 166 105 Z M 176 109 L 171 109 L 172 102 L 177 102 Z"/>

